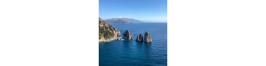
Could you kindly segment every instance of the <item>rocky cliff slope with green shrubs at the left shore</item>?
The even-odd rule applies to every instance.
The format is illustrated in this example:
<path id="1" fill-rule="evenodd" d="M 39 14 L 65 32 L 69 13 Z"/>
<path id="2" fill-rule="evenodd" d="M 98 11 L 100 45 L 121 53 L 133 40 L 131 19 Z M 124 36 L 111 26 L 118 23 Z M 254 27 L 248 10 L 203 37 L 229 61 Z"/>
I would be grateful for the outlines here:
<path id="1" fill-rule="evenodd" d="M 99 17 L 99 42 L 116 40 L 121 35 L 119 29 L 106 23 Z"/>

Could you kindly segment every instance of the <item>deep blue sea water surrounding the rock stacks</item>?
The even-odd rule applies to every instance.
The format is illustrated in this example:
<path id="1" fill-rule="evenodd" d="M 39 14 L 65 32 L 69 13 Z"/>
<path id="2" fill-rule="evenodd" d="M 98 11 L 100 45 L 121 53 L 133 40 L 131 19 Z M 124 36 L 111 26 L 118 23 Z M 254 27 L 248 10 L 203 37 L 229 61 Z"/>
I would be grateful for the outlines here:
<path id="1" fill-rule="evenodd" d="M 131 40 L 99 43 L 99 66 L 167 66 L 167 23 L 110 24 L 132 32 Z M 149 32 L 151 43 L 137 42 L 137 35 Z"/>

